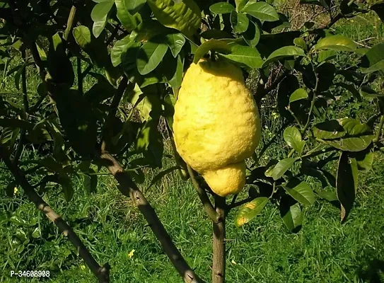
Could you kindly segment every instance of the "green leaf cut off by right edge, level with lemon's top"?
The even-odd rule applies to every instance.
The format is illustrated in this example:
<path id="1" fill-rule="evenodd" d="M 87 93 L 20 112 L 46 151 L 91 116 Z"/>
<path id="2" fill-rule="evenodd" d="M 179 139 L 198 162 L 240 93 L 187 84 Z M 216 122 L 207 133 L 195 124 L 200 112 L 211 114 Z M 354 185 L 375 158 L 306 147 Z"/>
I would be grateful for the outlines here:
<path id="1" fill-rule="evenodd" d="M 384 42 L 373 46 L 361 57 L 361 68 L 363 74 L 373 71 L 381 71 L 384 74 Z"/>

